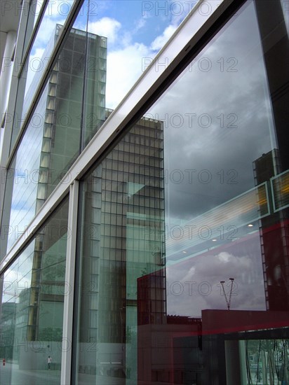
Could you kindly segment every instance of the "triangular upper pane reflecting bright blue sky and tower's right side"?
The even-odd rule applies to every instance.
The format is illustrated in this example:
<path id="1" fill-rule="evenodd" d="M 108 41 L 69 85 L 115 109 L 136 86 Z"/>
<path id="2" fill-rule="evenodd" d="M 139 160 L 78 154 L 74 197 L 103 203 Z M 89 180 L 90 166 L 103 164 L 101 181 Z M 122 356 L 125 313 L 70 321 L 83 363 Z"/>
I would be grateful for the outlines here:
<path id="1" fill-rule="evenodd" d="M 86 29 L 92 38 L 86 45 L 82 148 L 195 5 L 196 1 L 84 1 L 88 16 L 79 17 L 76 28 Z M 97 50 L 95 35 L 101 39 Z M 156 71 L 168 66 L 170 59 L 156 63 Z"/>

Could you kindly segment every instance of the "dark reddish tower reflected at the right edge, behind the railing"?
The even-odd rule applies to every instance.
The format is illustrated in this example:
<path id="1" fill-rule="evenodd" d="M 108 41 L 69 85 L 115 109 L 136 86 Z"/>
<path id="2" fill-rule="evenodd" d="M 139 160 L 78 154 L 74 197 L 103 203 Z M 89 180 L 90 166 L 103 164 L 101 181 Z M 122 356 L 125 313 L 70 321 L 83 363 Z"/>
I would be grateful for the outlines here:
<path id="1" fill-rule="evenodd" d="M 255 160 L 255 183 L 267 183 L 270 215 L 260 219 L 260 241 L 264 269 L 264 287 L 268 310 L 289 310 L 289 233 L 288 180 L 276 190 L 281 165 L 274 149 Z M 275 177 L 277 175 L 277 178 Z M 285 175 L 288 175 L 286 173 Z M 275 177 L 275 178 L 274 178 Z M 272 181 L 272 183 L 270 183 Z M 279 194 L 278 194 L 279 193 Z M 287 199 L 285 199 L 287 195 Z M 285 201 L 285 202 L 284 202 Z"/>

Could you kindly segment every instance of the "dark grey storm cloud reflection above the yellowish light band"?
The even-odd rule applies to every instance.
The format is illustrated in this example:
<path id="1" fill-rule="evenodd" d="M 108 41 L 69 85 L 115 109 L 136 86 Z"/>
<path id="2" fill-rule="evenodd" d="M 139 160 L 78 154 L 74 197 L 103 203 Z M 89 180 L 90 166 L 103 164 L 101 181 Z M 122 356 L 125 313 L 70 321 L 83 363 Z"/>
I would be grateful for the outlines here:
<path id="1" fill-rule="evenodd" d="M 255 186 L 253 161 L 276 144 L 253 4 L 189 65 L 149 117 L 164 122 L 167 215 L 189 219 Z M 174 180 L 174 170 L 183 180 Z"/>

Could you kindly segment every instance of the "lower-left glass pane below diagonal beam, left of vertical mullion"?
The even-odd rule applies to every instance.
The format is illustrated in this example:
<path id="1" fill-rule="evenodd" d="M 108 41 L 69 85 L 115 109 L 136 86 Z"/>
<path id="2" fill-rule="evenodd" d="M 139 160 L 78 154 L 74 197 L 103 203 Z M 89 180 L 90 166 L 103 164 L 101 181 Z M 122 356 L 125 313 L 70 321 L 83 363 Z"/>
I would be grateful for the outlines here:
<path id="1" fill-rule="evenodd" d="M 1 277 L 1 384 L 60 385 L 67 217 L 65 200 Z"/>

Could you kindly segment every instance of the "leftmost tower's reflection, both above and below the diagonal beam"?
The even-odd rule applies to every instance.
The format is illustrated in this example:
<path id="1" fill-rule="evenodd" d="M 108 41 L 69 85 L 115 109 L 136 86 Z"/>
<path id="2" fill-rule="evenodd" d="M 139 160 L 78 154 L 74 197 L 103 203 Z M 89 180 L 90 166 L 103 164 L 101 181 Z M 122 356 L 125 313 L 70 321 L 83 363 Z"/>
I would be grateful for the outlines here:
<path id="1" fill-rule="evenodd" d="M 51 54 L 61 29 L 61 25 L 56 25 L 55 32 L 43 53 L 43 60 Z M 83 118 L 82 122 L 86 125 L 84 132 L 86 140 L 91 138 L 100 121 L 103 122 L 105 119 L 105 46 L 106 38 L 72 29 L 51 73 L 46 90 L 43 92 L 40 105 L 42 111 L 38 109 L 39 116 L 43 118 L 41 121 L 43 137 L 39 159 L 36 211 L 55 188 L 58 176 L 65 173 L 67 162 L 78 154 L 79 148 L 74 146 L 74 143 L 79 142 L 82 114 L 87 118 L 86 120 Z M 89 55 L 89 68 L 86 71 L 86 82 L 83 84 L 85 52 Z M 31 99 L 29 92 L 34 91 L 40 75 L 41 71 L 36 72 L 26 99 Z M 86 111 L 82 111 L 83 92 L 86 92 Z M 99 121 L 96 121 L 96 116 Z M 29 292 L 28 340 L 61 340 L 65 255 L 61 250 L 63 244 L 57 242 L 59 237 L 57 230 L 63 226 L 62 232 L 65 233 L 67 231 L 65 223 L 65 218 L 55 219 L 51 227 L 44 229 L 35 240 L 32 287 Z M 63 259 L 63 263 L 59 257 Z M 54 272 L 49 269 L 53 263 L 56 266 Z M 57 277 L 59 277 L 59 284 Z M 39 287 L 39 281 L 41 281 L 41 287 Z M 49 309 L 50 307 L 53 308 Z M 59 310 L 56 307 L 59 307 Z M 53 319 L 52 323 L 49 321 L 51 314 L 58 314 L 58 319 Z"/>

